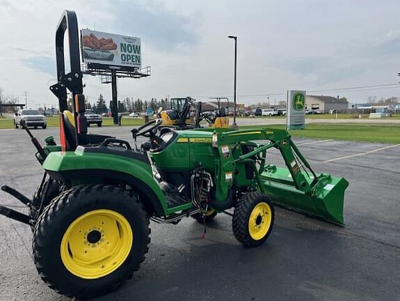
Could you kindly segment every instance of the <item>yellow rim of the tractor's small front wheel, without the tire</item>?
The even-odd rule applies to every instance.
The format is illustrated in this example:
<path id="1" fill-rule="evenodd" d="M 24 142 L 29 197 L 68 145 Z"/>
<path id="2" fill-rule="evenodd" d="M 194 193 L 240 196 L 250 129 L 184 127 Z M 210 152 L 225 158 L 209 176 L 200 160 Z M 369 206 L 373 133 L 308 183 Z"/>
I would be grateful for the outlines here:
<path id="1" fill-rule="evenodd" d="M 266 236 L 272 222 L 272 210 L 268 203 L 257 203 L 248 219 L 248 232 L 253 240 L 260 240 Z"/>

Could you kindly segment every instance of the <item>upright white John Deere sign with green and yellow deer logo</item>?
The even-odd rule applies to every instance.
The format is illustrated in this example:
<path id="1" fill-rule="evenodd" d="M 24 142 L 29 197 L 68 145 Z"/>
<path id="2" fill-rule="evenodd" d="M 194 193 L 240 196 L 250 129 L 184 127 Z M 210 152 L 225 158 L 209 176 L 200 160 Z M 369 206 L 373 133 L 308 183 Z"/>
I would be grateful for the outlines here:
<path id="1" fill-rule="evenodd" d="M 305 91 L 287 91 L 286 128 L 303 129 L 305 124 Z"/>

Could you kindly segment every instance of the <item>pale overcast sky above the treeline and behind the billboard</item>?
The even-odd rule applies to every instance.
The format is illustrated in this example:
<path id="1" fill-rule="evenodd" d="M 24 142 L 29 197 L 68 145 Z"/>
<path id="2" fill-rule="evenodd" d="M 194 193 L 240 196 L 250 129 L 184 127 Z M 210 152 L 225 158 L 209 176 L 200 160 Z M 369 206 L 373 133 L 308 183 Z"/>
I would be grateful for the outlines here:
<path id="1" fill-rule="evenodd" d="M 287 89 L 326 90 L 399 82 L 399 0 L 50 1 L 0 0 L 0 88 L 28 92 L 29 106 L 56 105 L 54 36 L 63 10 L 79 28 L 138 36 L 152 75 L 120 79 L 119 99 L 233 95 L 238 36 L 238 102 Z M 111 85 L 85 77 L 85 95 L 111 99 Z M 312 93 L 310 93 L 312 94 Z M 314 93 L 315 94 L 315 93 Z M 399 87 L 317 93 L 366 102 L 400 96 Z M 285 95 L 271 95 L 270 102 Z M 24 100 L 24 96 L 20 96 Z"/>

